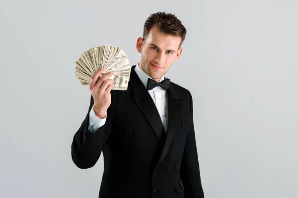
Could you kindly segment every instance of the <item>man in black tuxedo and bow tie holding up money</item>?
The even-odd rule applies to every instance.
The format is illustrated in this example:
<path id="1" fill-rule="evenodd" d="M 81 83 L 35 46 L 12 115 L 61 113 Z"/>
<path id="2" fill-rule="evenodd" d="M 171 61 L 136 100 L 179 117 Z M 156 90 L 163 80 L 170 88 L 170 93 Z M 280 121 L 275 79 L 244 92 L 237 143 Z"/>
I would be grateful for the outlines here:
<path id="1" fill-rule="evenodd" d="M 113 72 L 90 84 L 88 113 L 74 135 L 79 168 L 104 172 L 99 198 L 204 198 L 190 92 L 164 75 L 182 52 L 186 29 L 172 14 L 151 14 L 127 91 L 111 90 Z"/>

